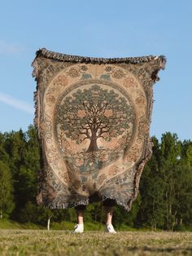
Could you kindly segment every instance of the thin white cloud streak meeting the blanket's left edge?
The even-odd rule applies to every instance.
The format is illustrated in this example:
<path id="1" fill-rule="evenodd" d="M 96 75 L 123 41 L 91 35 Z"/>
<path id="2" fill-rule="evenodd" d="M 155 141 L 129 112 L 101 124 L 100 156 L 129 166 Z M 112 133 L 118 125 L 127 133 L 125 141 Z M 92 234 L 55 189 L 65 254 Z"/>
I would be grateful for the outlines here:
<path id="1" fill-rule="evenodd" d="M 0 92 L 0 102 L 10 105 L 13 108 L 20 109 L 20 110 L 30 113 L 30 114 L 34 113 L 34 109 L 33 109 L 32 105 L 30 105 L 24 101 L 14 99 L 13 97 L 11 97 L 11 95 L 6 95 L 1 92 Z"/>

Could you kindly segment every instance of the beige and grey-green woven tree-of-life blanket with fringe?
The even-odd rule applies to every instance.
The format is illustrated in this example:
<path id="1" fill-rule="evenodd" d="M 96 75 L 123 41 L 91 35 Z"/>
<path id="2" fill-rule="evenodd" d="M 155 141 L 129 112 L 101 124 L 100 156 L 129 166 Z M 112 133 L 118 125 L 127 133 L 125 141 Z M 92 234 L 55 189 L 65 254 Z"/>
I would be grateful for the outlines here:
<path id="1" fill-rule="evenodd" d="M 68 208 L 110 198 L 131 209 L 151 157 L 153 85 L 165 62 L 163 55 L 104 59 L 37 51 L 38 205 Z"/>

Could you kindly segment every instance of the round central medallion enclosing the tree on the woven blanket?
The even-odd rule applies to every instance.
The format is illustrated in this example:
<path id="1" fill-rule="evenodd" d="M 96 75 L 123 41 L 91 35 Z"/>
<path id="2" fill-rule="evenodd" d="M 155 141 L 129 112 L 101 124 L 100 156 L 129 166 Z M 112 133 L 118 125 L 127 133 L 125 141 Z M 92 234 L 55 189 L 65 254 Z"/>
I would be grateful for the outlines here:
<path id="1" fill-rule="evenodd" d="M 135 131 L 129 95 L 112 82 L 89 80 L 65 90 L 55 104 L 55 140 L 70 166 L 90 174 L 122 157 Z"/>

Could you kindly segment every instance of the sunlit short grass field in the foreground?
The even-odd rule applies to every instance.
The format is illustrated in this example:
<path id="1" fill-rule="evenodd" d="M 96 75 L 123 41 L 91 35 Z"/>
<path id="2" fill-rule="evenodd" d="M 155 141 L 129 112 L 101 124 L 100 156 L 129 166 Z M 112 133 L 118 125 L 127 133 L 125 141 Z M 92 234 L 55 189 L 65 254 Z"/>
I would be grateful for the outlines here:
<path id="1" fill-rule="evenodd" d="M 192 255 L 192 232 L 0 230 L 1 255 Z"/>

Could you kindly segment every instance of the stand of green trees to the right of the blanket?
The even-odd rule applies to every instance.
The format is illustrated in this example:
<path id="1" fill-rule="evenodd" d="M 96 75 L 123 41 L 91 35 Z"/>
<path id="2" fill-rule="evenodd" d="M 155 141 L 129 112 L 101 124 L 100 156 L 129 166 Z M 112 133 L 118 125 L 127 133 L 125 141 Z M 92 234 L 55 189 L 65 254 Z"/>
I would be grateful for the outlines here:
<path id="1" fill-rule="evenodd" d="M 142 204 L 138 226 L 164 228 L 190 226 L 192 219 L 192 168 L 190 141 L 165 133 L 161 143 L 153 138 L 153 156 L 146 164 L 140 183 Z"/>

